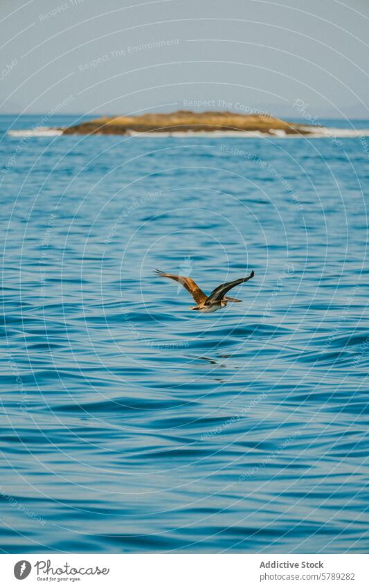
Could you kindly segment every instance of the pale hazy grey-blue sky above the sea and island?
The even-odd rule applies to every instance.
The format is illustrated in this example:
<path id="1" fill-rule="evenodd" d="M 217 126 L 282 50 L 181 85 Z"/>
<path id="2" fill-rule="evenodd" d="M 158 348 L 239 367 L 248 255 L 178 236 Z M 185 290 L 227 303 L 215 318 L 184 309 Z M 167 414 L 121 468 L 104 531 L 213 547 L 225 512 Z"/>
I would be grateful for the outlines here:
<path id="1" fill-rule="evenodd" d="M 368 0 L 1 0 L 0 114 L 369 118 L 368 30 Z"/>

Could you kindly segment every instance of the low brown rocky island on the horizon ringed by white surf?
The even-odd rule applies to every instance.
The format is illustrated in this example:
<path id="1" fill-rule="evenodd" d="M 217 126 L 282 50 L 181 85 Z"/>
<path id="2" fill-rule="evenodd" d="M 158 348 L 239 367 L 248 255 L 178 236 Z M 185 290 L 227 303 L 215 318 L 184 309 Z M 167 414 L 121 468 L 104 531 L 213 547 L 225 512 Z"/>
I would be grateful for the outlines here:
<path id="1" fill-rule="evenodd" d="M 314 126 L 281 121 L 269 114 L 237 114 L 234 112 L 191 112 L 179 110 L 169 114 L 141 116 L 102 116 L 92 121 L 60 129 L 62 134 L 118 134 L 141 133 L 186 134 L 199 132 L 255 133 L 285 136 L 313 133 Z"/>

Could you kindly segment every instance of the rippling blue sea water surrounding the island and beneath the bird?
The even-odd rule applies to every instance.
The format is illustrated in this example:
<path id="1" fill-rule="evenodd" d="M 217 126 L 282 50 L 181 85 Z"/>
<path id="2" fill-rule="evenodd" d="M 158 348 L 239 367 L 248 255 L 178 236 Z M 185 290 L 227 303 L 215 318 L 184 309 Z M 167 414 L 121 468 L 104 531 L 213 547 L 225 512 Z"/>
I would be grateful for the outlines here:
<path id="1" fill-rule="evenodd" d="M 369 139 L 40 119 L 0 118 L 2 551 L 367 552 Z M 155 267 L 255 277 L 204 315 Z"/>

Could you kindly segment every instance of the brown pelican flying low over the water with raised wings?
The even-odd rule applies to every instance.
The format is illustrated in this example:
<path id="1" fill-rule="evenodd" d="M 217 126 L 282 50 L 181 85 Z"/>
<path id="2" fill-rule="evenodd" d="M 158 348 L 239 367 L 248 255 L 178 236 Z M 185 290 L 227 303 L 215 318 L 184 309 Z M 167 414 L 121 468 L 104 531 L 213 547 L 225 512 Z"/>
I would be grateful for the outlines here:
<path id="1" fill-rule="evenodd" d="M 155 269 L 155 272 L 161 278 L 170 278 L 171 280 L 175 280 L 179 282 L 183 287 L 186 288 L 188 292 L 190 292 L 192 298 L 197 303 L 197 306 L 190 306 L 191 310 L 198 310 L 199 312 L 215 312 L 215 310 L 219 310 L 219 308 L 224 308 L 228 302 L 242 302 L 242 300 L 238 300 L 237 298 L 231 298 L 230 296 L 225 296 L 228 290 L 234 288 L 235 286 L 242 284 L 243 282 L 247 282 L 255 275 L 253 271 L 251 274 L 246 278 L 239 278 L 238 280 L 233 280 L 233 282 L 226 282 L 225 284 L 221 284 L 217 288 L 206 296 L 204 292 L 199 288 L 196 282 L 191 278 L 186 276 L 174 276 L 173 274 L 165 274 L 165 271 L 161 271 L 160 269 Z"/>

